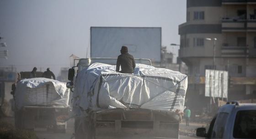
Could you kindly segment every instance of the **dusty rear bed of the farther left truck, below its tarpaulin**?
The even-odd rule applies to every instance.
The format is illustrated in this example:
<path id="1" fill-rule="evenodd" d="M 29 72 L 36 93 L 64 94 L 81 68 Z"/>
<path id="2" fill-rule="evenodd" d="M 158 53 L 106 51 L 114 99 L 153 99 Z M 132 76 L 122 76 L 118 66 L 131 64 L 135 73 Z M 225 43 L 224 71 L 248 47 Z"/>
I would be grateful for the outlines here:
<path id="1" fill-rule="evenodd" d="M 15 125 L 16 128 L 64 132 L 67 116 L 65 107 L 26 106 L 15 112 Z"/>

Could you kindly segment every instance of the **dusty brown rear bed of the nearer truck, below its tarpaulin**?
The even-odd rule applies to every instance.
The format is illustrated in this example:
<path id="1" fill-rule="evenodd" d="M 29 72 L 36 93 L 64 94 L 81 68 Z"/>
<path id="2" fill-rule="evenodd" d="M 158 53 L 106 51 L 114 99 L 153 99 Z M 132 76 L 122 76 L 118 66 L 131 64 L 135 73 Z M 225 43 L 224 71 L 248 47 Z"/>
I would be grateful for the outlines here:
<path id="1" fill-rule="evenodd" d="M 88 139 L 178 139 L 179 118 L 168 111 L 114 108 L 91 111 L 82 125 L 88 125 Z"/>

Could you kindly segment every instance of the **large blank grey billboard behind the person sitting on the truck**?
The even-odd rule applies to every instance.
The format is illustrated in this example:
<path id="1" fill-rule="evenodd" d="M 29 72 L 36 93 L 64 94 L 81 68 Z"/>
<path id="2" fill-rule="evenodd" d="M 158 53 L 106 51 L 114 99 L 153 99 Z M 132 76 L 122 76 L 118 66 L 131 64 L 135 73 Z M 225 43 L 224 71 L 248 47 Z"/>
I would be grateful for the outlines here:
<path id="1" fill-rule="evenodd" d="M 91 27 L 91 57 L 117 58 L 122 46 L 134 58 L 161 59 L 160 27 Z"/>

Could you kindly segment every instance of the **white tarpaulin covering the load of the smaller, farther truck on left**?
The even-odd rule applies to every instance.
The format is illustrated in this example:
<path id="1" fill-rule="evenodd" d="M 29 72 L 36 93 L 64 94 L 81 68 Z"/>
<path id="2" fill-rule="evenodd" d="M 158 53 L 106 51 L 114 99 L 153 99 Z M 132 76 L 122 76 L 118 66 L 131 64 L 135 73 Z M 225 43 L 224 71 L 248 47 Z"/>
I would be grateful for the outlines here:
<path id="1" fill-rule="evenodd" d="M 48 78 L 23 79 L 16 85 L 15 102 L 18 109 L 23 106 L 67 107 L 69 88 L 64 82 Z"/>

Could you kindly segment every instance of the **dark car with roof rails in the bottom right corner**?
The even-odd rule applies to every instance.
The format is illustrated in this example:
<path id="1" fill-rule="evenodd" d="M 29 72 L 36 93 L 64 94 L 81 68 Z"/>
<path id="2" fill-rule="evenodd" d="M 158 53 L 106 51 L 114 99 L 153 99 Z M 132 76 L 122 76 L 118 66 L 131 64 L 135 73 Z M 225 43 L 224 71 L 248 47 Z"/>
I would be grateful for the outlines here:
<path id="1" fill-rule="evenodd" d="M 219 108 L 205 128 L 197 129 L 198 137 L 206 139 L 256 139 L 256 103 L 228 102 Z"/>

